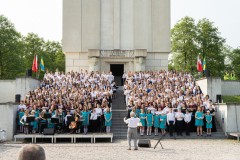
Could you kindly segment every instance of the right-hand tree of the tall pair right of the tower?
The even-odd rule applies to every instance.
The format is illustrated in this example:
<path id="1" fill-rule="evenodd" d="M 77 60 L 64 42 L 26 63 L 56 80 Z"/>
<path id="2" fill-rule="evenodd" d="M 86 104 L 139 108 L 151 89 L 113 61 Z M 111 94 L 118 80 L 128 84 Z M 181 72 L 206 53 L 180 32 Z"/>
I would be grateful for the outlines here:
<path id="1" fill-rule="evenodd" d="M 208 19 L 202 19 L 197 24 L 197 43 L 200 52 L 205 57 L 207 70 L 212 76 L 224 75 L 224 43 L 225 40 L 220 36 L 218 28 Z"/>

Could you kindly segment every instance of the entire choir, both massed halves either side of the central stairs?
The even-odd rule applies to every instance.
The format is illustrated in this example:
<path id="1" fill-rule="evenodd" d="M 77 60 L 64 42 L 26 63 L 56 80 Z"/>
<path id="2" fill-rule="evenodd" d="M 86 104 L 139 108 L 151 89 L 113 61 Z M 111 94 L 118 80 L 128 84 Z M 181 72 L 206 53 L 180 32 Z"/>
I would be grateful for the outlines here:
<path id="1" fill-rule="evenodd" d="M 207 136 L 216 131 L 215 110 L 187 72 L 157 71 L 123 74 L 124 99 L 128 110 L 140 118 L 140 135 L 169 132 Z M 18 106 L 20 133 L 110 132 L 112 98 L 116 91 L 111 72 L 46 73 L 40 86 L 27 93 Z"/>

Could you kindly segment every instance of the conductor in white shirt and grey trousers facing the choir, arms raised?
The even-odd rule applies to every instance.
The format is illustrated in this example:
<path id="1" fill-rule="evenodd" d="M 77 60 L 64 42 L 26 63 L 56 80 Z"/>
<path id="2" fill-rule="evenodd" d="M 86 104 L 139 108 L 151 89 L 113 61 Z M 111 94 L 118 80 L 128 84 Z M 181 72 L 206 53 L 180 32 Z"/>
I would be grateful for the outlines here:
<path id="1" fill-rule="evenodd" d="M 128 139 L 128 150 L 131 150 L 131 140 L 134 141 L 134 150 L 138 150 L 137 147 L 137 124 L 140 122 L 139 118 L 134 117 L 135 114 L 131 113 L 130 117 L 123 119 L 126 124 L 128 124 L 128 132 L 127 132 L 127 139 Z"/>

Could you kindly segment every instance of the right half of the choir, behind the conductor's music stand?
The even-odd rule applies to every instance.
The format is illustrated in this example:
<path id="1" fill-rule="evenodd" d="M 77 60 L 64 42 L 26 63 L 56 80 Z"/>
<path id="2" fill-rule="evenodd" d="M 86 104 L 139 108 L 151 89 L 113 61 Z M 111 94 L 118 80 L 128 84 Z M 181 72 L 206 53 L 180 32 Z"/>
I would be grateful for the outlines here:
<path id="1" fill-rule="evenodd" d="M 193 76 L 187 72 L 157 71 L 128 72 L 122 76 L 124 96 L 130 114 L 140 119 L 140 135 L 162 135 L 183 131 L 189 136 L 211 136 L 216 131 L 215 109 L 208 95 L 204 95 Z"/>

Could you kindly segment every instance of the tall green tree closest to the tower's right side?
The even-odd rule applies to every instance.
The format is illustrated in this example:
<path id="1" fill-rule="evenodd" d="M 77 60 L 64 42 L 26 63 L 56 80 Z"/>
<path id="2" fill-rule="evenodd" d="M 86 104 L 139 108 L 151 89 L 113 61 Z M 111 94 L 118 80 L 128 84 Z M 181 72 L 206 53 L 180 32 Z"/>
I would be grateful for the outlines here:
<path id="1" fill-rule="evenodd" d="M 193 72 L 196 68 L 197 29 L 194 19 L 185 17 L 171 30 L 173 59 L 172 66 L 177 70 Z"/>

